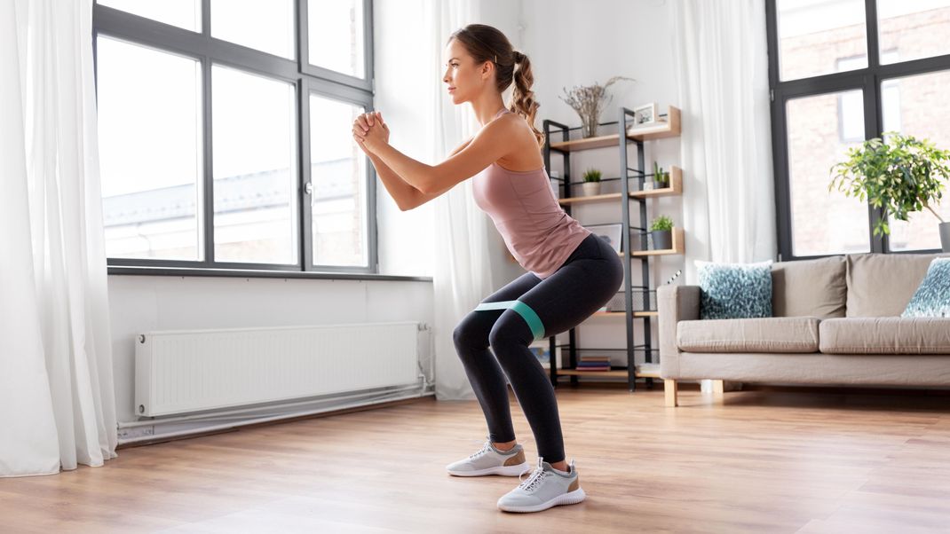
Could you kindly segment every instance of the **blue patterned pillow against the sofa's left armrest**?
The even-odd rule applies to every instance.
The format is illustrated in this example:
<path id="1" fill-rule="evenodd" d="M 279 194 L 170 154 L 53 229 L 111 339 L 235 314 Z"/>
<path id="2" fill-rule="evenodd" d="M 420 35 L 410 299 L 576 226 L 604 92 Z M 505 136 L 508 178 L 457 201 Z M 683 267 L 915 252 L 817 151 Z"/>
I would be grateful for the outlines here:
<path id="1" fill-rule="evenodd" d="M 699 319 L 771 317 L 771 260 L 756 264 L 695 261 Z"/>

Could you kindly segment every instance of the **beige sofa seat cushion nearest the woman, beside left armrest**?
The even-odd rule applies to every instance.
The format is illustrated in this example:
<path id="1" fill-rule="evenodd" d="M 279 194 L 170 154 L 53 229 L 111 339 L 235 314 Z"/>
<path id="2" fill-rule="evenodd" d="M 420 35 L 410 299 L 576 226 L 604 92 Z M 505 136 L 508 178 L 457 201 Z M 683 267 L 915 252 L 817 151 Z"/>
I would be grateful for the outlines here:
<path id="1" fill-rule="evenodd" d="M 685 352 L 817 352 L 818 322 L 814 317 L 680 321 L 676 344 Z"/>

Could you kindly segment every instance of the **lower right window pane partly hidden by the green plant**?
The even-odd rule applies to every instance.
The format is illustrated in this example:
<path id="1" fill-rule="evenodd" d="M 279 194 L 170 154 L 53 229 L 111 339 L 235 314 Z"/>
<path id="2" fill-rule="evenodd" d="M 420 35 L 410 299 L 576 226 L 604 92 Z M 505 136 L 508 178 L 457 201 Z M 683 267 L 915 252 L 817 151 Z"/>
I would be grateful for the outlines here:
<path id="1" fill-rule="evenodd" d="M 948 86 L 950 71 L 945 70 L 883 82 L 883 131 L 930 139 L 937 148 L 950 149 Z M 933 208 L 950 221 L 950 191 L 944 190 L 942 202 Z M 940 220 L 932 212 L 924 209 L 908 219 L 889 221 L 891 250 L 940 249 Z"/>

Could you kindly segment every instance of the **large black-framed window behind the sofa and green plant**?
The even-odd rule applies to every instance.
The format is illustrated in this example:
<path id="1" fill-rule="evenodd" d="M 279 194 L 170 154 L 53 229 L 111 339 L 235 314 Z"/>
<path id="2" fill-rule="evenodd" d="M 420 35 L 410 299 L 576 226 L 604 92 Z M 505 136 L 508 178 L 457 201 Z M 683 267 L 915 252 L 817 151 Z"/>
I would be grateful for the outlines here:
<path id="1" fill-rule="evenodd" d="M 884 132 L 950 149 L 950 0 L 768 0 L 767 16 L 781 258 L 940 249 L 933 213 L 874 236 L 883 211 L 827 186 L 848 148 Z"/>

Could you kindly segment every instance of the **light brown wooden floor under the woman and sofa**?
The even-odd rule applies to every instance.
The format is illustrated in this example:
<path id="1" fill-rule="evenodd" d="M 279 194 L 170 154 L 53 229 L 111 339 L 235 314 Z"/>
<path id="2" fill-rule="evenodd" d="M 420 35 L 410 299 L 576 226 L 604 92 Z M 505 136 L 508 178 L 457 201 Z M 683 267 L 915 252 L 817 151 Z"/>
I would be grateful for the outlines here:
<path id="1" fill-rule="evenodd" d="M 8 532 L 947 532 L 950 396 L 558 390 L 585 502 L 495 506 L 457 478 L 472 402 L 410 404 L 126 448 L 102 468 L 0 479 Z M 529 462 L 535 446 L 512 396 Z"/>

